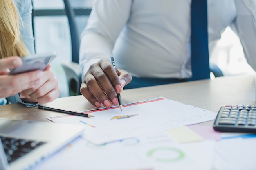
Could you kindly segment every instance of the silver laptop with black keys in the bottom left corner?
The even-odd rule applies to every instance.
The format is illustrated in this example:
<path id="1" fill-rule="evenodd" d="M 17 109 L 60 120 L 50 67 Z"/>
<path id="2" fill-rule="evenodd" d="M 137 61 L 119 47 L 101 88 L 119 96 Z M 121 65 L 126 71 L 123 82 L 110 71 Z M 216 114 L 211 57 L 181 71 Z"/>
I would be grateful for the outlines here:
<path id="1" fill-rule="evenodd" d="M 84 126 L 0 118 L 0 170 L 29 169 L 78 137 Z"/>

